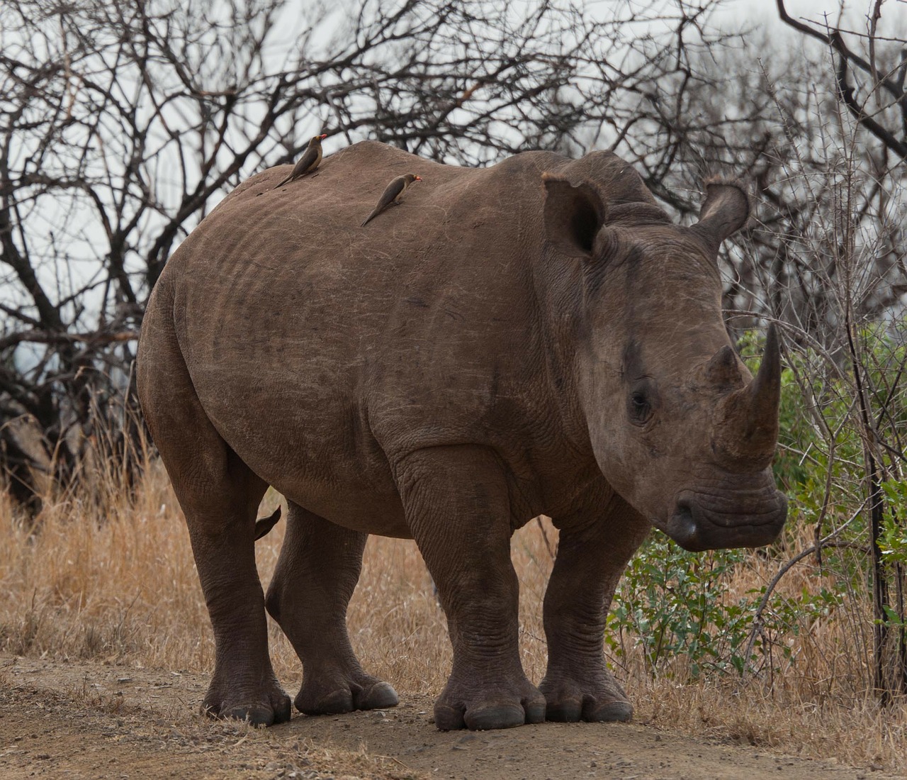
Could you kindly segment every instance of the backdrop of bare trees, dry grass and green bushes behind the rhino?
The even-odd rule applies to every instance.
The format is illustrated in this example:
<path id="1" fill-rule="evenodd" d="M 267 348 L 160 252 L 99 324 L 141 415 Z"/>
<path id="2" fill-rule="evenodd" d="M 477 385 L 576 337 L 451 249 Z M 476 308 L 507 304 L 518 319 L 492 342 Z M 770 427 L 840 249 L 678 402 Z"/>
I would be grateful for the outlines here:
<path id="1" fill-rule="evenodd" d="M 892 0 L 807 18 L 777 2 L 771 35 L 726 5 L 5 3 L 0 649 L 210 669 L 132 359 L 168 253 L 232 186 L 318 130 L 328 153 L 369 137 L 465 164 L 612 149 L 680 220 L 709 174 L 753 185 L 725 307 L 751 368 L 766 322 L 784 337 L 790 515 L 761 550 L 653 533 L 615 598 L 610 665 L 639 719 L 907 765 L 907 30 Z M 258 543 L 263 582 L 281 538 Z M 512 542 L 536 682 L 556 545 L 543 518 Z M 444 616 L 412 543 L 370 540 L 350 626 L 398 690 L 443 686 Z M 271 641 L 294 679 L 276 626 Z"/>

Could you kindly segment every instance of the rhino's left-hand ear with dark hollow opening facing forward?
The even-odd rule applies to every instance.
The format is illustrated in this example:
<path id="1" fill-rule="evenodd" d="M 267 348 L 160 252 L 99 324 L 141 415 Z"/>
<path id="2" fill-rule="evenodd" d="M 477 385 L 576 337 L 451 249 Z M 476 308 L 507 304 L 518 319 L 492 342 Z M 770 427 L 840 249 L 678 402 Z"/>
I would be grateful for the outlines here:
<path id="1" fill-rule="evenodd" d="M 556 173 L 542 173 L 545 185 L 545 237 L 571 257 L 592 256 L 595 237 L 605 223 L 605 203 L 590 183 L 571 184 Z"/>

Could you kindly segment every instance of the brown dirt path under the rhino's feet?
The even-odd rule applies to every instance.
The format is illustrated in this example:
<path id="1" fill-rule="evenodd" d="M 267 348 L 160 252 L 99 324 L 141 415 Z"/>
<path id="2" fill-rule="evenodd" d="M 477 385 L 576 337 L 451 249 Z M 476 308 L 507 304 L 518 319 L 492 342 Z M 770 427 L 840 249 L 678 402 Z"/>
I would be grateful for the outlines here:
<path id="1" fill-rule="evenodd" d="M 0 656 L 0 776 L 728 778 L 893 776 L 697 742 L 639 724 L 545 724 L 441 733 L 431 701 L 386 712 L 294 716 L 252 729 L 196 710 L 204 676 Z"/>

